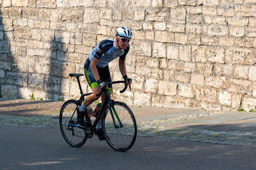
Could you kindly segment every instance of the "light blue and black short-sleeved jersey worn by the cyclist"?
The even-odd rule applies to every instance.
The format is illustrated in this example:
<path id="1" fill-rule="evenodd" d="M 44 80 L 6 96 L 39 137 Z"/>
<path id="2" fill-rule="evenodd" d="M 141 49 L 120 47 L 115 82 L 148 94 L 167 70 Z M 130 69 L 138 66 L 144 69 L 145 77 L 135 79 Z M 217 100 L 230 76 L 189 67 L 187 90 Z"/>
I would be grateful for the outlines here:
<path id="1" fill-rule="evenodd" d="M 115 45 L 115 40 L 105 39 L 100 41 L 100 43 L 93 48 L 89 55 L 90 61 L 93 57 L 99 59 L 97 62 L 98 67 L 106 67 L 109 62 L 120 57 L 120 59 L 125 60 L 126 54 L 129 52 L 130 46 L 128 45 L 125 50 L 117 50 Z"/>

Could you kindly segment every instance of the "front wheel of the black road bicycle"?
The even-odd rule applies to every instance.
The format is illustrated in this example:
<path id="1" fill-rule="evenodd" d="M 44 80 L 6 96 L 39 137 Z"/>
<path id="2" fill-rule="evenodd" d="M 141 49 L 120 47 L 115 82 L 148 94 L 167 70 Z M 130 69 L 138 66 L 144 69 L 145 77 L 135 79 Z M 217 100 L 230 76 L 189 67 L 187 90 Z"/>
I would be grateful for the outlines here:
<path id="1" fill-rule="evenodd" d="M 111 148 L 119 152 L 125 152 L 134 145 L 136 140 L 136 120 L 131 109 L 126 104 L 115 101 L 115 103 L 113 103 L 113 107 L 124 126 L 120 127 L 115 113 L 113 113 L 115 123 L 118 125 L 118 128 L 115 128 L 109 108 L 106 107 L 102 120 L 102 131 L 106 142 L 111 146 Z"/>

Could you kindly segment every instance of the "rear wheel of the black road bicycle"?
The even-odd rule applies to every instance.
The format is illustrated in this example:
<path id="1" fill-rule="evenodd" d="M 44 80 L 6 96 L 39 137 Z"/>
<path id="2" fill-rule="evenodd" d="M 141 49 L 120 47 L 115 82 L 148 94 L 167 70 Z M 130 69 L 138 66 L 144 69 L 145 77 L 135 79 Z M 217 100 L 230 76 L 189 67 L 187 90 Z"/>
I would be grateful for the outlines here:
<path id="1" fill-rule="evenodd" d="M 61 107 L 59 122 L 61 134 L 65 141 L 68 143 L 68 145 L 78 148 L 84 145 L 87 136 L 83 129 L 70 125 L 70 120 L 72 123 L 77 122 L 76 107 L 77 103 L 75 100 L 66 101 Z"/>

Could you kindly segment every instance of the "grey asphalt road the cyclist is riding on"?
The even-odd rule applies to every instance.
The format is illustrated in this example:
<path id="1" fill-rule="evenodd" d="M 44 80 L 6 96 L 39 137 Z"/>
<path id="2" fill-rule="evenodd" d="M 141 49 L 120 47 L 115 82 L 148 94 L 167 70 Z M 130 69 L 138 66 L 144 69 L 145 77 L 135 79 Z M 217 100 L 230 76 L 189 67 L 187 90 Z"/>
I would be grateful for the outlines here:
<path id="1" fill-rule="evenodd" d="M 0 125 L 0 169 L 256 169 L 256 148 L 138 137 L 116 152 L 97 136 L 72 148 L 59 129 Z"/>

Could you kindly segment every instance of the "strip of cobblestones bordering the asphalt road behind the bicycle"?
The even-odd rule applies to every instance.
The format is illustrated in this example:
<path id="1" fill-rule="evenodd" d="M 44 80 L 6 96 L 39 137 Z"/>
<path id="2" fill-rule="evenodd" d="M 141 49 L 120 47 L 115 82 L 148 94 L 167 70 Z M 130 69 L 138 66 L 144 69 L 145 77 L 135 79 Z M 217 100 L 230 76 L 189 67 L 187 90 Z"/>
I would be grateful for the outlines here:
<path id="1" fill-rule="evenodd" d="M 40 115 L 35 117 L 11 117 L 0 115 L 0 120 L 1 125 L 59 128 L 58 115 Z M 168 118 L 166 120 L 169 121 L 170 119 Z M 164 122 L 164 120 L 159 120 L 158 122 Z M 138 124 L 138 136 L 181 139 L 186 141 L 200 141 L 226 145 L 256 146 L 256 132 L 170 129 L 157 125 L 157 120 Z"/>

